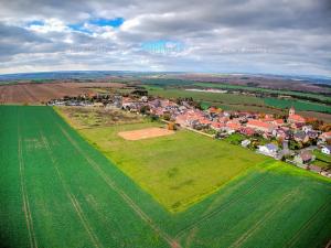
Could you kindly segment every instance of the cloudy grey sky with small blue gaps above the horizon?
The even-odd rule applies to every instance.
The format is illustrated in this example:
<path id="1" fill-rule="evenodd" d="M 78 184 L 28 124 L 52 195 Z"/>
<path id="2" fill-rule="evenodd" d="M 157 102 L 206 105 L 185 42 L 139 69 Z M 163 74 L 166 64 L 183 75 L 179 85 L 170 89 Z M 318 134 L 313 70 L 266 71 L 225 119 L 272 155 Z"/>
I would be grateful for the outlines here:
<path id="1" fill-rule="evenodd" d="M 330 0 L 0 0 L 0 74 L 331 76 Z"/>

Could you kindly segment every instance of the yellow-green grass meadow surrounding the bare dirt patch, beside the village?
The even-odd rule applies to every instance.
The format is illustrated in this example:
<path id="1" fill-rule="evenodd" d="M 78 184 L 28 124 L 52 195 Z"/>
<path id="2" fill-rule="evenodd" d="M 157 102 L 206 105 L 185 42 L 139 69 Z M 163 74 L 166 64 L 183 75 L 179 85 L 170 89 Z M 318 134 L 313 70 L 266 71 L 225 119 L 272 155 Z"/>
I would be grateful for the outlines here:
<path id="1" fill-rule="evenodd" d="M 122 130 L 157 123 L 83 129 L 79 132 L 171 212 L 183 211 L 265 157 L 191 131 L 127 141 Z"/>

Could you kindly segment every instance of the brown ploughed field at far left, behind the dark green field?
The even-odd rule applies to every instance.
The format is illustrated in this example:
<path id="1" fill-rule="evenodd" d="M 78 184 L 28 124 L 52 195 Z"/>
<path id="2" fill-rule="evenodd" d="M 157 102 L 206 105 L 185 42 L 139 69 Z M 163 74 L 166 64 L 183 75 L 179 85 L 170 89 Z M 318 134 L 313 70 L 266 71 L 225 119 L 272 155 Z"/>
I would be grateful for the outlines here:
<path id="1" fill-rule="evenodd" d="M 40 104 L 64 96 L 93 94 L 98 88 L 120 88 L 118 83 L 50 83 L 0 85 L 0 104 Z"/>

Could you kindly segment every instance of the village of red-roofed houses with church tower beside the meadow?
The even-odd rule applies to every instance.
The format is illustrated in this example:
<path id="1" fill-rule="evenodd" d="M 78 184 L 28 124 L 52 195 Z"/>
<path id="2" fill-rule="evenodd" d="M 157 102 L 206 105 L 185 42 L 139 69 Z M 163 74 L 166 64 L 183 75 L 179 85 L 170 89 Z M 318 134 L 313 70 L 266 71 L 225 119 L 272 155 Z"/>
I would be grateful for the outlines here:
<path id="1" fill-rule="evenodd" d="M 168 123 L 169 129 L 184 128 L 257 153 L 285 161 L 331 177 L 331 131 L 320 130 L 316 119 L 296 114 L 291 107 L 287 116 L 248 111 L 226 111 L 210 107 L 201 109 L 192 99 L 150 97 L 147 91 L 136 94 L 65 97 L 47 103 L 50 106 L 98 107 L 122 109 Z"/>

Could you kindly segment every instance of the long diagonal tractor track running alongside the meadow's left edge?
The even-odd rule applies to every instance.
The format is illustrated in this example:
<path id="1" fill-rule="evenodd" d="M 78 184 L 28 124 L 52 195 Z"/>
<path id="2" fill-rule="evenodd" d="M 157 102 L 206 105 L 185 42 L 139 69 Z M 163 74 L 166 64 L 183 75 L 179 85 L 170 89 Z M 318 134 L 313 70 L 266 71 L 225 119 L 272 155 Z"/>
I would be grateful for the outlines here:
<path id="1" fill-rule="evenodd" d="M 119 194 L 122 200 L 128 204 L 129 207 L 134 209 L 134 212 L 146 223 L 149 227 L 151 227 L 160 237 L 162 237 L 172 248 L 182 248 L 182 246 L 172 237 L 170 237 L 166 231 L 163 231 L 157 224 L 122 191 L 120 190 L 115 182 L 109 179 L 109 176 L 100 169 L 100 166 L 92 160 L 89 157 L 82 151 L 78 144 L 72 139 L 72 137 L 67 133 L 64 128 L 57 123 L 62 133 L 66 137 L 66 139 L 73 144 L 73 147 L 79 152 L 79 154 L 88 162 L 88 164 L 102 176 L 105 183 L 117 194 Z"/>

